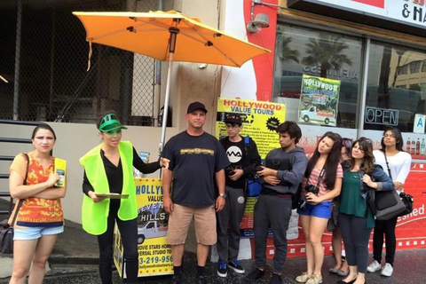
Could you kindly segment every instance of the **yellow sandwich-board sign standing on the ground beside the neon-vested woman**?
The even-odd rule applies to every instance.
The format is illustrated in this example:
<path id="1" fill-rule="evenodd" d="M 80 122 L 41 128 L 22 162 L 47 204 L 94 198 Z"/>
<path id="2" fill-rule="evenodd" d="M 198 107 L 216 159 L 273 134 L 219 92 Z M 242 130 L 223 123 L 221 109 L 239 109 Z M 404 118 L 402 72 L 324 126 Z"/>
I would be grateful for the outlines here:
<path id="1" fill-rule="evenodd" d="M 171 247 L 166 242 L 169 215 L 162 206 L 162 179 L 135 178 L 135 184 L 138 204 L 138 276 L 172 274 Z M 114 246 L 114 263 L 122 276 L 125 264 L 118 230 L 115 230 Z"/>

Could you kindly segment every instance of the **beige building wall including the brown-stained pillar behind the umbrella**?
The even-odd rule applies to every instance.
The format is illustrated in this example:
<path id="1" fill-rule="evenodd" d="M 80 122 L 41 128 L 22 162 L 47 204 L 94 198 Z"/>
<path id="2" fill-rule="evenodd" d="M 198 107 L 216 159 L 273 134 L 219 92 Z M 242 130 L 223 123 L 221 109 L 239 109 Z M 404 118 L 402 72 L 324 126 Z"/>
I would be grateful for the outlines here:
<path id="1" fill-rule="evenodd" d="M 169 4 L 165 1 L 165 4 Z M 221 0 L 184 0 L 175 1 L 175 10 L 186 15 L 196 16 L 201 22 L 214 28 L 219 28 L 220 14 L 223 10 Z M 168 63 L 162 63 L 162 102 L 166 87 Z M 166 131 L 166 141 L 178 132 L 186 129 L 185 114 L 189 103 L 194 100 L 204 103 L 209 110 L 204 130 L 214 134 L 216 121 L 217 98 L 220 93 L 221 67 L 209 65 L 200 68 L 200 64 L 174 62 L 170 80 L 170 106 L 172 107 L 173 127 Z M 139 114 L 140 115 L 140 114 Z M 83 168 L 78 159 L 101 141 L 94 124 L 53 123 L 49 122 L 58 137 L 53 154 L 67 160 L 67 196 L 62 205 L 65 217 L 76 223 L 81 223 L 81 205 L 83 199 L 82 182 Z M 30 138 L 34 127 L 12 126 L 0 124 L 2 137 Z M 123 130 L 123 140 L 130 140 L 138 151 L 149 151 L 150 161 L 158 159 L 161 128 L 129 126 Z M 6 144 L 0 148 L 0 154 L 16 155 L 33 149 L 32 145 Z M 0 172 L 8 172 L 10 163 L 0 162 Z M 158 177 L 157 173 L 150 177 Z M 0 179 L 0 191 L 8 191 L 7 180 Z"/>

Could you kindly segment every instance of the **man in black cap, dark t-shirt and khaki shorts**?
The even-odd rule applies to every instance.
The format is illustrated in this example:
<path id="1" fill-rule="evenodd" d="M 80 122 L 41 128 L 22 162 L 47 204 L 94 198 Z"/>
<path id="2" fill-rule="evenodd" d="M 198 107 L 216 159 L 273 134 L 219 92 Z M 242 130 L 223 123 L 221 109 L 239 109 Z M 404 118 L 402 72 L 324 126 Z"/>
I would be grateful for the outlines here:
<path id="1" fill-rule="evenodd" d="M 200 102 L 190 104 L 185 115 L 188 128 L 170 138 L 162 152 L 170 160 L 162 177 L 163 205 L 170 213 L 166 238 L 173 256 L 174 276 L 170 283 L 182 283 L 182 256 L 192 219 L 197 237 L 197 282 L 206 283 L 204 267 L 209 246 L 217 242 L 215 209 L 218 212 L 225 206 L 224 169 L 229 161 L 217 138 L 202 130 L 206 114 L 206 107 Z"/>

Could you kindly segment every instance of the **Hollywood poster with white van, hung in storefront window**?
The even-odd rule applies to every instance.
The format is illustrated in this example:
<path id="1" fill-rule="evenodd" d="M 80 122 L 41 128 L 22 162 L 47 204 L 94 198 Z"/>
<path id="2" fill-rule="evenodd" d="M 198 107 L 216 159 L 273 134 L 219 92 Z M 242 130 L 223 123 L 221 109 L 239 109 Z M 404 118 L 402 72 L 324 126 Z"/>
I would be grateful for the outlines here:
<path id="1" fill-rule="evenodd" d="M 340 80 L 304 75 L 298 122 L 335 126 Z"/>

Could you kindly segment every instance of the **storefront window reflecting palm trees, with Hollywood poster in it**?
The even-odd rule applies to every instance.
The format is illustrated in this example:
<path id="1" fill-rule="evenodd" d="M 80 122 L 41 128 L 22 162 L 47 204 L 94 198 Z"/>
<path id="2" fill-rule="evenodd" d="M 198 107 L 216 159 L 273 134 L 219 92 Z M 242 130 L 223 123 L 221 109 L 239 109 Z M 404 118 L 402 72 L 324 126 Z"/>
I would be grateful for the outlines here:
<path id="1" fill-rule="evenodd" d="M 333 79 L 337 84 L 340 83 L 338 100 L 327 99 L 327 102 L 326 100 L 320 102 L 317 99 L 316 107 L 322 108 L 327 114 L 335 112 L 336 127 L 356 128 L 359 113 L 361 53 L 362 41 L 355 37 L 279 23 L 273 100 L 286 104 L 286 120 L 300 122 L 302 77 L 311 75 Z M 308 108 L 311 109 L 311 106 Z M 325 124 L 328 123 L 330 122 L 326 120 Z"/>

